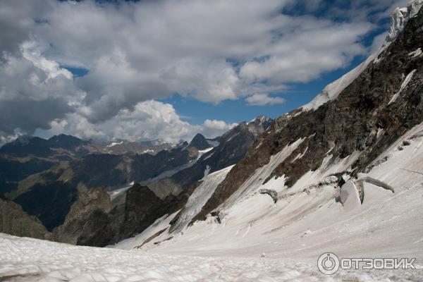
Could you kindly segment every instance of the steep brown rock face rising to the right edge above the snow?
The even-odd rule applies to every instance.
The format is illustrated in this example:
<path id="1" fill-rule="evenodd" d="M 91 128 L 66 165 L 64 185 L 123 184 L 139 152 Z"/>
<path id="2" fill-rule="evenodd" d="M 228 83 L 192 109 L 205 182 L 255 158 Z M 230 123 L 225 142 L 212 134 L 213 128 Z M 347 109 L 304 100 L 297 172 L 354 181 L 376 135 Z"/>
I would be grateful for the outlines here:
<path id="1" fill-rule="evenodd" d="M 360 152 L 353 165 L 354 176 L 364 171 L 398 137 L 421 123 L 423 56 L 412 57 L 409 54 L 423 44 L 422 25 L 423 9 L 417 17 L 408 21 L 396 41 L 379 55 L 378 61 L 370 63 L 336 100 L 327 102 L 315 111 L 297 110 L 277 118 L 257 138 L 245 158 L 231 170 L 195 220 L 204 219 L 257 168 L 267 164 L 271 155 L 295 140 L 304 138 L 298 149 L 273 173 L 288 176 L 288 187 L 307 171 L 317 169 L 330 149 L 333 159 Z M 405 77 L 414 70 L 408 85 L 390 103 L 400 91 Z M 380 130 L 384 130 L 383 134 L 377 137 Z M 303 152 L 305 155 L 302 158 L 293 161 L 295 156 Z"/>

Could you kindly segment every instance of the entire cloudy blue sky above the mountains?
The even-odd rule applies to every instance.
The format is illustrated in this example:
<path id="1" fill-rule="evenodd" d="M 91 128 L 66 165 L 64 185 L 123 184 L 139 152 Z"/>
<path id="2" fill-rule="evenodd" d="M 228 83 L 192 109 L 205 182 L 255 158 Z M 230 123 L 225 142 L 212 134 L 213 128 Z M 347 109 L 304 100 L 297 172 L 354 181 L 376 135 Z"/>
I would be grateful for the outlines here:
<path id="1" fill-rule="evenodd" d="M 0 1 L 0 145 L 216 137 L 307 104 L 408 0 Z"/>

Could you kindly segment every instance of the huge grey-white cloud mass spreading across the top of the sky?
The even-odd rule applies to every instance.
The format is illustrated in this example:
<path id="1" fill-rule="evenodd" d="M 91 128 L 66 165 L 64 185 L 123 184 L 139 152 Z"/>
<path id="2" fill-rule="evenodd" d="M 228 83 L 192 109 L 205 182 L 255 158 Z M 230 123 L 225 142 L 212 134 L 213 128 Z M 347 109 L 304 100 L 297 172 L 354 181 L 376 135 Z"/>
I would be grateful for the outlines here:
<path id="1" fill-rule="evenodd" d="M 34 32 L 52 46 L 46 56 L 90 70 L 77 81 L 92 108 L 88 118 L 97 123 L 137 102 L 174 92 L 218 104 L 281 89 L 286 82 L 307 82 L 364 54 L 358 41 L 372 25 L 277 13 L 285 4 L 58 2 L 44 15 L 47 23 Z"/>

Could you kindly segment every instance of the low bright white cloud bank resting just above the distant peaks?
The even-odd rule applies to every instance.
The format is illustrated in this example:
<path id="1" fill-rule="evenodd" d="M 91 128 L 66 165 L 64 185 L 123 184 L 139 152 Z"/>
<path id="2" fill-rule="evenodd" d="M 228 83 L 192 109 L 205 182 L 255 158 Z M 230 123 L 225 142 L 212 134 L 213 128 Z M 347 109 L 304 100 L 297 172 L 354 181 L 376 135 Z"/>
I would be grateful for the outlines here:
<path id="1" fill-rule="evenodd" d="M 196 133 L 216 137 L 233 128 L 236 123 L 206 120 L 203 125 L 192 125 L 182 121 L 171 104 L 149 100 L 139 102 L 134 109 L 123 109 L 113 118 L 93 124 L 78 114 L 51 121 L 49 130 L 39 130 L 39 135 L 50 136 L 67 132 L 82 138 L 113 140 L 154 140 L 161 137 L 166 142 L 191 140 Z"/>

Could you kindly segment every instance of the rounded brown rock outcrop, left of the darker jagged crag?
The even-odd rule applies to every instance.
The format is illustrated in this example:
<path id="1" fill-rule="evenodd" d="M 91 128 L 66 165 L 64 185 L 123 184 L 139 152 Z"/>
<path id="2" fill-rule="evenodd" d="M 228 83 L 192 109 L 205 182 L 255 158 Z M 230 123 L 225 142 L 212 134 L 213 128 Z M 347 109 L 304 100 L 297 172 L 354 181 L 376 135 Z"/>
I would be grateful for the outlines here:
<path id="1" fill-rule="evenodd" d="M 72 204 L 63 225 L 54 228 L 53 240 L 73 245 L 93 245 L 108 221 L 111 210 L 105 188 L 85 192 Z"/>

